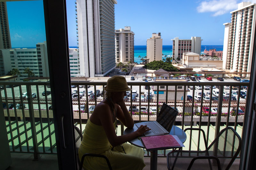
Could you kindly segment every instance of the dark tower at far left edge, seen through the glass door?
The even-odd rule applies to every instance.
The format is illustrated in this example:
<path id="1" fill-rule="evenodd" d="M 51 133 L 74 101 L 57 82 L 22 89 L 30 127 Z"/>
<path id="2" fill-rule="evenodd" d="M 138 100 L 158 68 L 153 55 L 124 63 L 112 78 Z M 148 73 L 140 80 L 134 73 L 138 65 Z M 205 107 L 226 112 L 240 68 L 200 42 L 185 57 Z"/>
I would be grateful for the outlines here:
<path id="1" fill-rule="evenodd" d="M 6 2 L 0 2 L 0 49 L 12 48 Z"/>

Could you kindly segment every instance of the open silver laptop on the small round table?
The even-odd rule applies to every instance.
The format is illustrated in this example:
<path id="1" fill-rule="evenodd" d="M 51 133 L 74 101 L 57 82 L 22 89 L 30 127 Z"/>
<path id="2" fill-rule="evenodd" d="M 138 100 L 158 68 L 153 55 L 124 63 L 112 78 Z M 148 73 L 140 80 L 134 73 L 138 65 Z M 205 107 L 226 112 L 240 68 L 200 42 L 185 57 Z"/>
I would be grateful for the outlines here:
<path id="1" fill-rule="evenodd" d="M 147 125 L 151 129 L 144 133 L 146 137 L 169 134 L 177 115 L 177 110 L 164 103 L 156 121 L 140 122 L 136 126 Z"/>

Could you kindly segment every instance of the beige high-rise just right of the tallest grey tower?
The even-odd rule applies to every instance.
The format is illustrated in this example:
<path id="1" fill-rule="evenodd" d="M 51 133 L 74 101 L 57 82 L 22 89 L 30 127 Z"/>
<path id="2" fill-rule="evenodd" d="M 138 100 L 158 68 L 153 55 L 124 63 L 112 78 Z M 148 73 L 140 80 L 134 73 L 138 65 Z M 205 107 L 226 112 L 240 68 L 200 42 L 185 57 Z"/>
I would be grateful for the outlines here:
<path id="1" fill-rule="evenodd" d="M 125 26 L 115 31 L 116 34 L 116 64 L 122 62 L 126 65 L 128 62 L 134 62 L 134 33 L 130 26 Z M 131 64 L 128 65 L 128 71 L 131 71 Z"/>

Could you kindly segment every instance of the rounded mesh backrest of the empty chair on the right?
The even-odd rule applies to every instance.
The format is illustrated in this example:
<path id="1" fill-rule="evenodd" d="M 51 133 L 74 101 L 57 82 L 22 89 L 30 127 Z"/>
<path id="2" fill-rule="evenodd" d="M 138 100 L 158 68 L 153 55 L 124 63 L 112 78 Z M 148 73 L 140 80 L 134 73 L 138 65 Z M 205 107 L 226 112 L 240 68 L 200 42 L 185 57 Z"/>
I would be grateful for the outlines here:
<path id="1" fill-rule="evenodd" d="M 241 137 L 231 127 L 221 130 L 206 149 L 208 156 L 215 156 L 220 160 L 221 169 L 229 169 L 240 150 Z"/>

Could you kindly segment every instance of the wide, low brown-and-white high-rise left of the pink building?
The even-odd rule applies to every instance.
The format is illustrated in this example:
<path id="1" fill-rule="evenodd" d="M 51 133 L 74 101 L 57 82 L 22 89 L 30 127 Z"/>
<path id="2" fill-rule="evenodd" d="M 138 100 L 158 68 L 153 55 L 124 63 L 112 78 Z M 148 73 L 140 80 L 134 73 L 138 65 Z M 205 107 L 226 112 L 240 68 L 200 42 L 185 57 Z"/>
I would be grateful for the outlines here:
<path id="1" fill-rule="evenodd" d="M 174 60 L 182 61 L 182 54 L 193 52 L 201 54 L 201 37 L 191 37 L 191 39 L 172 39 L 172 57 Z"/>

